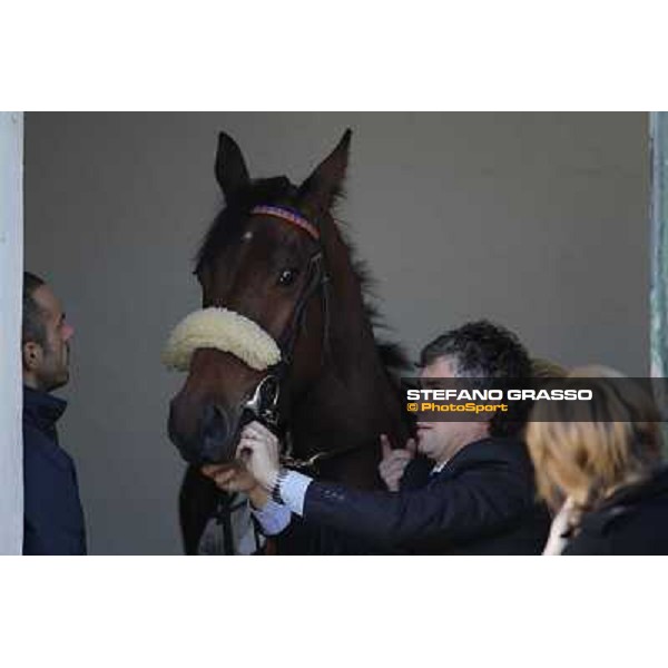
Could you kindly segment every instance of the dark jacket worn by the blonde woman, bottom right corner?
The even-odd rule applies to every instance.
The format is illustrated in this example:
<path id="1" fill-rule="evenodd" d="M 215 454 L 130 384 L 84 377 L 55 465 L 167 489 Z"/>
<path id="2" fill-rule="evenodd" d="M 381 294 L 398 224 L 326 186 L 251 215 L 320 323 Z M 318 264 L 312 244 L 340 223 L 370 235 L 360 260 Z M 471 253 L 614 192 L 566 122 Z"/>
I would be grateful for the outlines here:
<path id="1" fill-rule="evenodd" d="M 563 554 L 668 554 L 668 469 L 584 513 Z"/>

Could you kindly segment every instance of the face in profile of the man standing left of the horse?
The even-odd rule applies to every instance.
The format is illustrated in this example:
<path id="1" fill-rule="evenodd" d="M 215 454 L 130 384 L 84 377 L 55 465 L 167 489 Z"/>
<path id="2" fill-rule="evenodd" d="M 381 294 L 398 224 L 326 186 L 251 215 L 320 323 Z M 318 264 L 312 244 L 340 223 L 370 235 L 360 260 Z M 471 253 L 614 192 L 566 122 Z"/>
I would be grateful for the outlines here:
<path id="1" fill-rule="evenodd" d="M 66 322 L 62 305 L 48 285 L 38 287 L 32 298 L 41 310 L 46 332 L 46 346 L 38 346 L 41 355 L 33 373 L 38 387 L 50 392 L 69 381 L 69 341 L 75 330 Z"/>

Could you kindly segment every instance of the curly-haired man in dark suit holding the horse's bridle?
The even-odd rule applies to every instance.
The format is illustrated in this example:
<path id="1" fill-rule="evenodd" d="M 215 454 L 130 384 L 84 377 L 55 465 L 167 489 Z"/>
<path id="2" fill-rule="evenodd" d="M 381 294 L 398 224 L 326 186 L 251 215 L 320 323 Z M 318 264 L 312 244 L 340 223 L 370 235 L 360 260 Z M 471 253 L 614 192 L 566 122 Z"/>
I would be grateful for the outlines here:
<path id="1" fill-rule="evenodd" d="M 477 383 L 531 375 L 517 337 L 482 321 L 446 332 L 421 355 L 423 386 L 438 379 Z M 281 469 L 278 442 L 259 423 L 245 428 L 238 452 L 250 474 L 209 473 L 223 489 L 244 489 L 269 533 L 304 523 L 366 541 L 377 551 L 539 554 L 549 515 L 536 502 L 533 470 L 519 434 L 527 406 L 491 420 L 419 422 L 418 451 L 383 443 L 380 472 L 389 491 L 369 492 Z M 268 498 L 271 493 L 271 499 Z"/>

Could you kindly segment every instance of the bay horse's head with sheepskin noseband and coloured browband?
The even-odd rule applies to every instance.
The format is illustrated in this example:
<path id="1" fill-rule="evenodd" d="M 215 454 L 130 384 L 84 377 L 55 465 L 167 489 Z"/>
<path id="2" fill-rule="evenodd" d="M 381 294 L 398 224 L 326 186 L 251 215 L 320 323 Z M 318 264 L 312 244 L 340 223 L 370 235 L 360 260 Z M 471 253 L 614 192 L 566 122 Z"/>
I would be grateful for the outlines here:
<path id="1" fill-rule="evenodd" d="M 288 410 L 295 386 L 317 372 L 323 237 L 350 136 L 299 187 L 285 177 L 250 180 L 239 147 L 219 136 L 215 171 L 226 206 L 197 257 L 203 311 L 181 322 L 166 351 L 188 371 L 171 401 L 169 436 L 190 463 L 232 462 L 244 422 L 271 419 L 275 405 Z"/>

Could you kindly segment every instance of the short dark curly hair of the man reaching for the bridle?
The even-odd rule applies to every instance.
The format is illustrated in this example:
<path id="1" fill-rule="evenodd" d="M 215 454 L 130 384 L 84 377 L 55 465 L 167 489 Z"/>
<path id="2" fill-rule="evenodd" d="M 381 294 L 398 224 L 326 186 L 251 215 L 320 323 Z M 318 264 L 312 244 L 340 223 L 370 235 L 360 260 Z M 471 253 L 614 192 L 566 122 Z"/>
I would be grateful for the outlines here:
<path id="1" fill-rule="evenodd" d="M 450 330 L 424 346 L 420 366 L 441 357 L 452 360 L 456 376 L 475 379 L 481 390 L 513 386 L 510 379 L 531 379 L 531 360 L 520 340 L 509 330 L 482 320 Z M 507 413 L 497 412 L 490 421 L 490 435 L 508 436 L 520 432 L 531 404 L 510 402 Z"/>

